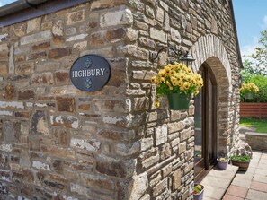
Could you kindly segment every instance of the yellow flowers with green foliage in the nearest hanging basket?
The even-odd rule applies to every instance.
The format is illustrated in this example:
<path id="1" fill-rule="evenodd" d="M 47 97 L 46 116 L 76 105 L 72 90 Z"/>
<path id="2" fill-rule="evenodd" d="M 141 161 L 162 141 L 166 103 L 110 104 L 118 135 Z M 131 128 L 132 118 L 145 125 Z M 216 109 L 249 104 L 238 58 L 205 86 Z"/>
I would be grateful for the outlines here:
<path id="1" fill-rule="evenodd" d="M 160 98 L 164 94 L 184 93 L 197 95 L 203 86 L 203 80 L 200 74 L 192 72 L 191 68 L 182 63 L 175 62 L 174 65 L 165 65 L 160 69 L 156 76 L 151 78 L 151 83 L 156 84 L 156 97 Z M 159 107 L 159 101 L 155 101 L 156 107 Z"/>

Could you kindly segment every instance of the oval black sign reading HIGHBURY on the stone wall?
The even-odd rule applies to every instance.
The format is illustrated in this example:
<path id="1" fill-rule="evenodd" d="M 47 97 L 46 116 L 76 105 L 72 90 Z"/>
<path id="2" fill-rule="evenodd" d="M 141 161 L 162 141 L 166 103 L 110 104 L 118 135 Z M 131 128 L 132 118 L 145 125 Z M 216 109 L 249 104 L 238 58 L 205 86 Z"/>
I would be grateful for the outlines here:
<path id="1" fill-rule="evenodd" d="M 76 59 L 69 72 L 70 80 L 81 91 L 99 91 L 109 81 L 111 65 L 97 55 L 85 55 Z"/>

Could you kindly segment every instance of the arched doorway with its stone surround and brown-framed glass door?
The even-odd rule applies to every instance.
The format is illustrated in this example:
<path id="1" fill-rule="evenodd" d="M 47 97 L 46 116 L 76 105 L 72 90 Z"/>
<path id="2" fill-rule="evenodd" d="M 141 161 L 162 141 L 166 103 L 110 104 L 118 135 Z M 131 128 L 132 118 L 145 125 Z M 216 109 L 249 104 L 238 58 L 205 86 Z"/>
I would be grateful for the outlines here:
<path id="1" fill-rule="evenodd" d="M 195 153 L 201 156 L 200 161 L 195 161 L 194 169 L 195 181 L 199 181 L 212 167 L 216 156 L 227 154 L 231 149 L 233 110 L 229 102 L 232 95 L 232 70 L 227 49 L 213 34 L 200 37 L 191 47 L 190 53 L 196 58 L 192 70 L 200 72 L 205 80 L 205 86 L 197 97 L 200 100 L 195 100 Z"/>

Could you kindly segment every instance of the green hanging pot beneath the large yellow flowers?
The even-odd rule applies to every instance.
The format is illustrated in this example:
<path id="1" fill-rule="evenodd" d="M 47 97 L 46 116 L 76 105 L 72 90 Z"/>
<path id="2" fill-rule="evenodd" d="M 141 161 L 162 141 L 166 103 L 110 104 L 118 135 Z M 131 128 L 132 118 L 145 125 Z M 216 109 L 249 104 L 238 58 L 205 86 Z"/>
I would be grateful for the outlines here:
<path id="1" fill-rule="evenodd" d="M 167 98 L 169 101 L 169 108 L 174 110 L 186 110 L 189 109 L 191 95 L 188 94 L 180 94 L 180 93 L 172 93 L 167 94 Z"/>

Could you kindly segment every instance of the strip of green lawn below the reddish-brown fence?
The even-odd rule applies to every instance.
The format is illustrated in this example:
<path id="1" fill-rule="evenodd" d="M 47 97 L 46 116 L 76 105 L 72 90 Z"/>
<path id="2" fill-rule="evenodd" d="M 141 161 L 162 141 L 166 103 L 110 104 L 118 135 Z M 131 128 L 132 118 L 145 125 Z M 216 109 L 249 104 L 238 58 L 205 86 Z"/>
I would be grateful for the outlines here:
<path id="1" fill-rule="evenodd" d="M 267 134 L 267 117 L 241 117 L 240 126 L 254 127 L 256 133 Z"/>

